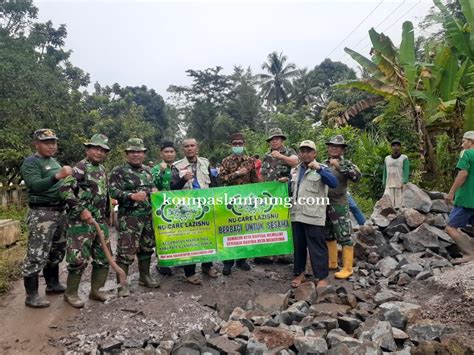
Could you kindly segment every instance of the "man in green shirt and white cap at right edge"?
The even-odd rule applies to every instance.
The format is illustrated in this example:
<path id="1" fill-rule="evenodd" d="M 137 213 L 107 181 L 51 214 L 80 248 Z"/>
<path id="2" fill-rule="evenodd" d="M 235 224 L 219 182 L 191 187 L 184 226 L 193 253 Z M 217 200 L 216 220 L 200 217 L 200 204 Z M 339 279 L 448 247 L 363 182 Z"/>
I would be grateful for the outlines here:
<path id="1" fill-rule="evenodd" d="M 468 224 L 474 224 L 474 131 L 464 133 L 462 148 L 464 153 L 456 165 L 459 172 L 446 196 L 447 202 L 452 203 L 454 200 L 446 232 L 463 254 L 453 264 L 474 260 L 474 240 L 459 230 Z"/>

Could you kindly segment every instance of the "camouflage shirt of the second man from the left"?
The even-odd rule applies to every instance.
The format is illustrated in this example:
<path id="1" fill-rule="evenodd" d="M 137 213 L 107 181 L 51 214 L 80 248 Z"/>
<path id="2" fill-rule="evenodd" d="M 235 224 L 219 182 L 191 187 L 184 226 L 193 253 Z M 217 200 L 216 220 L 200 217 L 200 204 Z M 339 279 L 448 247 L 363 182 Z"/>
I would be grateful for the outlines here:
<path id="1" fill-rule="evenodd" d="M 70 222 L 80 221 L 84 209 L 88 209 L 99 223 L 103 223 L 109 214 L 107 175 L 101 164 L 81 160 L 74 166 L 72 176 L 64 179 L 59 194 L 67 204 Z"/>

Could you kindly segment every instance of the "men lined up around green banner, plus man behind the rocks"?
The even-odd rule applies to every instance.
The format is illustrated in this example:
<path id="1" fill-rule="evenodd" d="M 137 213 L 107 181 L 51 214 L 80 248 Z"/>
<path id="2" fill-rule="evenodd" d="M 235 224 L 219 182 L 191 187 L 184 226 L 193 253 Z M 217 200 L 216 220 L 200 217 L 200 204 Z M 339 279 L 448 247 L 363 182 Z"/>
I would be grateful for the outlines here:
<path id="1" fill-rule="evenodd" d="M 84 143 L 85 158 L 74 167 L 61 167 L 54 159 L 58 141 L 56 134 L 50 129 L 35 131 L 36 152 L 26 158 L 21 167 L 29 194 L 29 238 L 23 265 L 25 304 L 35 308 L 49 305 L 38 294 L 38 279 L 42 270 L 47 294 L 64 293 L 65 301 L 71 306 L 83 307 L 78 289 L 89 259 L 92 259 L 89 298 L 102 302 L 107 299 L 107 294 L 100 289 L 107 280 L 109 260 L 97 238 L 95 222 L 103 231 L 110 250 L 107 221 L 111 201 L 118 203 L 116 263 L 128 274 L 136 257 L 139 284 L 155 288 L 159 283 L 150 276 L 155 247 L 150 195 L 155 191 L 206 189 L 259 181 L 279 181 L 290 187 L 295 249 L 292 286 L 298 287 L 305 281 L 308 254 L 317 284 L 327 284 L 329 270 L 338 268 L 337 243 L 342 246 L 343 265 L 335 277 L 350 277 L 354 251 L 347 187 L 348 182 L 358 182 L 361 173 L 344 157 L 347 144 L 341 135 L 326 143 L 329 158 L 324 164 L 316 160 L 317 149 L 313 141 L 301 142 L 297 154 L 285 146 L 286 138 L 280 129 L 270 130 L 267 138 L 270 150 L 262 159 L 260 172 L 256 160 L 245 154 L 244 136 L 241 133 L 232 134 L 231 154 L 222 161 L 216 177 L 209 161 L 199 156 L 198 142 L 194 138 L 183 141 L 184 158 L 178 161 L 175 161 L 174 144 L 164 142 L 161 146 L 163 160 L 151 169 L 143 164 L 147 151 L 143 141 L 131 138 L 126 143 L 125 162 L 107 173 L 103 165 L 110 151 L 106 136 L 92 136 Z M 400 142 L 392 142 L 394 162 L 390 163 L 396 166 L 397 176 L 404 181 L 405 156 L 397 160 L 401 157 L 397 144 L 399 146 Z M 387 165 L 387 181 L 395 179 L 392 170 Z M 390 183 L 386 186 L 387 189 L 395 189 L 395 185 Z M 391 193 L 395 200 L 399 197 L 398 191 L 387 193 Z M 300 197 L 327 197 L 329 204 L 297 203 Z M 68 265 L 66 287 L 59 282 L 58 267 L 65 255 Z M 242 270 L 250 270 L 245 259 L 237 260 L 235 264 Z M 230 275 L 233 265 L 234 260 L 225 261 L 222 273 Z M 170 268 L 159 264 L 157 267 L 163 275 L 172 274 Z M 201 269 L 209 277 L 218 277 L 213 263 L 203 263 Z M 196 274 L 196 265 L 184 266 L 184 274 L 191 284 L 202 282 Z M 128 286 L 122 284 L 118 295 L 130 295 Z"/>

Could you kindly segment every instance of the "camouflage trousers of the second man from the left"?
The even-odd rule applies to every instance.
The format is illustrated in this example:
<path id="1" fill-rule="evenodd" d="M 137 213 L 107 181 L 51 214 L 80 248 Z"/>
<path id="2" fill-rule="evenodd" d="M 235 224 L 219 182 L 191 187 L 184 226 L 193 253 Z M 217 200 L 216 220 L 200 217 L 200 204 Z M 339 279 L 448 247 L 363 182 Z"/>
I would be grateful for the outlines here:
<path id="1" fill-rule="evenodd" d="M 111 250 L 109 229 L 105 224 L 100 224 L 100 227 L 104 231 L 105 242 Z M 93 266 L 99 268 L 109 267 L 109 262 L 94 226 L 84 224 L 81 221 L 70 222 L 66 230 L 66 240 L 66 261 L 69 272 L 82 274 L 91 257 Z"/>

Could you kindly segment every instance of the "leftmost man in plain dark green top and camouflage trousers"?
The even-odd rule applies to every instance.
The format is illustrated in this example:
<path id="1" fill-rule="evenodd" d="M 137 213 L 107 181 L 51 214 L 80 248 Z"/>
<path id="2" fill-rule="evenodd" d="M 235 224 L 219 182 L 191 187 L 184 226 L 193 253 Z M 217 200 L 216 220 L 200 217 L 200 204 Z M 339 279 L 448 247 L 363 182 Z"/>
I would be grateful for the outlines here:
<path id="1" fill-rule="evenodd" d="M 56 134 L 39 129 L 33 134 L 36 153 L 26 158 L 20 171 L 28 191 L 28 244 L 22 267 L 26 300 L 33 308 L 48 307 L 49 302 L 38 295 L 38 274 L 43 270 L 46 293 L 62 293 L 59 283 L 59 263 L 64 258 L 66 240 L 65 206 L 58 190 L 63 179 L 72 174 L 70 166 L 59 165 L 54 159 L 58 145 Z"/>

